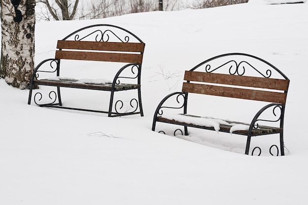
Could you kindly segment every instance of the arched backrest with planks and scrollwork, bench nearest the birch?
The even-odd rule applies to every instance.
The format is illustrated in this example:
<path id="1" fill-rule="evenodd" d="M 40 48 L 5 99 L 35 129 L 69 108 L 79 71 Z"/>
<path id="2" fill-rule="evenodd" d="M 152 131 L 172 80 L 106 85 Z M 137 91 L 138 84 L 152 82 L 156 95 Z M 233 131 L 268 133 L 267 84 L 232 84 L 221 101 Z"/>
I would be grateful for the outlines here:
<path id="1" fill-rule="evenodd" d="M 58 41 L 56 59 L 142 63 L 145 43 L 124 28 L 92 25 Z"/>

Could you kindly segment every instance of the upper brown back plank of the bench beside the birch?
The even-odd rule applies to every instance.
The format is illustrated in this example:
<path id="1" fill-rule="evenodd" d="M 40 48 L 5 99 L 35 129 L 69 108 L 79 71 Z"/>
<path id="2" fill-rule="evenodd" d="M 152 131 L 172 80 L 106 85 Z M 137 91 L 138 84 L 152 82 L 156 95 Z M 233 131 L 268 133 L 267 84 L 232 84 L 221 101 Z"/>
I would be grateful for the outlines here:
<path id="1" fill-rule="evenodd" d="M 143 52 L 144 43 L 119 43 L 95 41 L 58 41 L 58 49 Z"/>

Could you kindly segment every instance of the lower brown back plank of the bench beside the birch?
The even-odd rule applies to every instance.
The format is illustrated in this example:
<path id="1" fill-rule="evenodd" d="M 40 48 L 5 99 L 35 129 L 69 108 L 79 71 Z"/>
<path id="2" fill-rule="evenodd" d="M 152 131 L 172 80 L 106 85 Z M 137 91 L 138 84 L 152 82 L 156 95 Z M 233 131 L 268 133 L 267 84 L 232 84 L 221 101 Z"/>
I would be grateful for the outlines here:
<path id="1" fill-rule="evenodd" d="M 142 63 L 142 54 L 133 53 L 56 51 L 55 58 L 70 60 L 93 60 L 140 64 Z"/>

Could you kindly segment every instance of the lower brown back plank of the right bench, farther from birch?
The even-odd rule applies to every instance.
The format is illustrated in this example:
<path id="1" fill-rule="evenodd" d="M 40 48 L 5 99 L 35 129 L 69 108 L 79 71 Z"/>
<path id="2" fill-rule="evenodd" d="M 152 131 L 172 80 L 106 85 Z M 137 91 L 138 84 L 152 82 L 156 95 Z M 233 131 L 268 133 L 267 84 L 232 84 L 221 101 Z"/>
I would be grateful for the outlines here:
<path id="1" fill-rule="evenodd" d="M 271 103 L 285 103 L 286 93 L 278 93 L 263 90 L 252 90 L 234 87 L 223 87 L 216 85 L 205 85 L 197 83 L 183 83 L 183 92 L 198 93 L 229 98 L 239 98 L 254 101 L 264 101 Z"/>

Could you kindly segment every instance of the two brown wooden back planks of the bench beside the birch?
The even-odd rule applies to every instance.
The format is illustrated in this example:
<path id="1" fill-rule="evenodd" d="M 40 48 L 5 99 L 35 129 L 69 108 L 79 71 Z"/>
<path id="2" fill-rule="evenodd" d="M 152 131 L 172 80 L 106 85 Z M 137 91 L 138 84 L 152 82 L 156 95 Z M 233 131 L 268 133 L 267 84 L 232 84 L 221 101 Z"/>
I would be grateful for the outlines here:
<path id="1" fill-rule="evenodd" d="M 58 41 L 57 48 L 60 50 L 56 51 L 55 58 L 141 64 L 144 47 L 144 43 Z M 65 51 L 63 51 L 62 49 L 64 49 Z"/>

